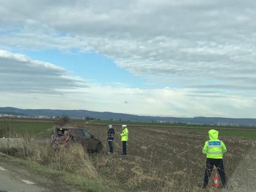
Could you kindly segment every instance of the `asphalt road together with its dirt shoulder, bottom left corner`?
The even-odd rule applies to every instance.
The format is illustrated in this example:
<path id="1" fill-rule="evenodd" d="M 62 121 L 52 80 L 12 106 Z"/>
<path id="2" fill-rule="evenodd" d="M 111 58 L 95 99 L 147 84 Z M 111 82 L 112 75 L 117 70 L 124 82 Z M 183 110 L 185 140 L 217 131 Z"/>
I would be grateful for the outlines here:
<path id="1" fill-rule="evenodd" d="M 62 183 L 28 170 L 0 153 L 0 192 L 79 192 Z"/>

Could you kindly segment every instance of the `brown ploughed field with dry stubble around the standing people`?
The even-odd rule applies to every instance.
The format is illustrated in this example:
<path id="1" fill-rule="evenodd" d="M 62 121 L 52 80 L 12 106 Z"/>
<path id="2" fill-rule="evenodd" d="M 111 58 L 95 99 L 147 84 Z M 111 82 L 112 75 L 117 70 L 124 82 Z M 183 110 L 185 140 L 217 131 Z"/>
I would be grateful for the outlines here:
<path id="1" fill-rule="evenodd" d="M 106 144 L 106 150 L 104 146 L 100 154 L 92 154 L 95 166 L 124 190 L 200 191 L 206 157 L 202 154 L 202 147 L 195 147 L 209 139 L 207 134 L 188 133 L 172 127 L 128 126 L 127 156 L 122 156 L 118 134 L 114 141 L 114 154 L 107 154 L 107 125 L 87 124 L 83 127 L 101 139 L 103 146 Z M 114 129 L 116 133 L 122 132 L 121 126 L 114 126 Z M 228 149 L 223 161 L 227 177 L 231 178 L 255 140 L 222 136 L 221 130 L 219 134 L 219 139 Z M 184 151 L 187 152 L 182 153 Z M 209 186 L 212 186 L 211 180 Z"/>

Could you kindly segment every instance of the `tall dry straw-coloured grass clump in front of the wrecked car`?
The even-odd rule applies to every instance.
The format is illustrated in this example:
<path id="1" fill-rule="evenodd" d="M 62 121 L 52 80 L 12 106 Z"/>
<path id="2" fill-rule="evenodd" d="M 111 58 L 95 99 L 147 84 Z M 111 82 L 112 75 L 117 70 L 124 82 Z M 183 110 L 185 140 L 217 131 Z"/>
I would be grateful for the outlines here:
<path id="1" fill-rule="evenodd" d="M 39 144 L 31 135 L 23 136 L 22 145 L 15 155 L 49 166 L 53 170 L 80 174 L 83 177 L 99 179 L 91 157 L 79 143 L 53 150 L 50 145 Z"/>

